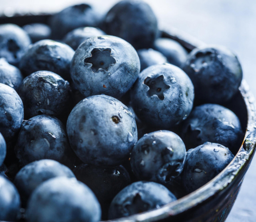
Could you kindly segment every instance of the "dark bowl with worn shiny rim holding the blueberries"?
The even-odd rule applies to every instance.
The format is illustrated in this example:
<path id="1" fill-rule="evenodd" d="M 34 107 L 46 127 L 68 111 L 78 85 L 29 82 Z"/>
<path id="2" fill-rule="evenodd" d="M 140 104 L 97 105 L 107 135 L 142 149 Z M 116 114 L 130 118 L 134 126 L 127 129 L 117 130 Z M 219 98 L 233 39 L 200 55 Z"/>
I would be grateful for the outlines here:
<path id="1" fill-rule="evenodd" d="M 23 26 L 32 22 L 48 23 L 49 16 L 28 14 L 0 17 L 0 24 L 15 23 Z M 177 40 L 188 52 L 204 44 L 179 30 L 162 30 L 163 37 Z M 225 221 L 255 153 L 256 112 L 253 102 L 254 97 L 243 80 L 239 92 L 224 105 L 239 117 L 245 137 L 235 158 L 217 177 L 198 190 L 159 209 L 109 221 Z"/>

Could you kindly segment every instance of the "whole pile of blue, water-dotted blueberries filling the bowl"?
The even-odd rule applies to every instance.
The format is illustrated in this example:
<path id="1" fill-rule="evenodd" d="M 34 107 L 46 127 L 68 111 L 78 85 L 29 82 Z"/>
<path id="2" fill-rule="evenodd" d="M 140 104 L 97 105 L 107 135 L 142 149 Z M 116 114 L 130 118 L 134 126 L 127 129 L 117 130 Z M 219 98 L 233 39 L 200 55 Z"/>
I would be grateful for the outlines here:
<path id="1" fill-rule="evenodd" d="M 236 55 L 188 54 L 138 0 L 105 16 L 71 6 L 49 24 L 0 26 L 0 220 L 137 214 L 234 158 L 244 132 L 222 105 L 239 93 Z"/>

